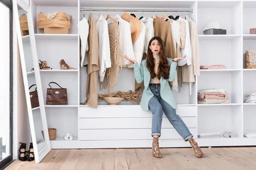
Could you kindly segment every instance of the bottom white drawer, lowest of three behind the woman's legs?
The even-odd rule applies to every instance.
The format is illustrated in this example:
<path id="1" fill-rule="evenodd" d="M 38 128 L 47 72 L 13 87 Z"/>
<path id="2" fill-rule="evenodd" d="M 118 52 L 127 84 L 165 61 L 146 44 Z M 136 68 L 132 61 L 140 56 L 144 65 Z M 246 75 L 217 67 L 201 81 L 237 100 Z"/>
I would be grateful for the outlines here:
<path id="1" fill-rule="evenodd" d="M 193 136 L 196 128 L 189 128 Z M 182 139 L 173 128 L 163 128 L 160 139 Z M 79 130 L 79 140 L 145 140 L 152 139 L 151 129 L 89 129 Z"/>

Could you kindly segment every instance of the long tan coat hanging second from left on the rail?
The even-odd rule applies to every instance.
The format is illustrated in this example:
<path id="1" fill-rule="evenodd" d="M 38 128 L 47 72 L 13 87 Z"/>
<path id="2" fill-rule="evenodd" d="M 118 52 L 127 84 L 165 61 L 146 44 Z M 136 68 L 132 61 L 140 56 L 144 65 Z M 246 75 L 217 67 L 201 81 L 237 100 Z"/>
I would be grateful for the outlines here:
<path id="1" fill-rule="evenodd" d="M 97 108 L 98 105 L 98 86 L 97 86 L 97 71 L 99 71 L 99 41 L 96 22 L 93 15 L 89 14 L 89 50 L 87 51 L 87 82 L 86 82 L 86 96 L 87 102 L 85 104 L 90 108 Z"/>

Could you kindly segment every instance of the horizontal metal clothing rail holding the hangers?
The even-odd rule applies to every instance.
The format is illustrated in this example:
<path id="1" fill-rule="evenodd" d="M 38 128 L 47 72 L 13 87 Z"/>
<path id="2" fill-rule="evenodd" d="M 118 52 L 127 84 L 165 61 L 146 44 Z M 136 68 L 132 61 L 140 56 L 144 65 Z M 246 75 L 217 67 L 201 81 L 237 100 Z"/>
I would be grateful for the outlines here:
<path id="1" fill-rule="evenodd" d="M 80 11 L 117 11 L 117 12 L 192 12 L 193 13 L 193 9 L 166 9 L 166 10 L 162 10 L 162 9 L 84 9 L 84 8 L 80 8 Z"/>

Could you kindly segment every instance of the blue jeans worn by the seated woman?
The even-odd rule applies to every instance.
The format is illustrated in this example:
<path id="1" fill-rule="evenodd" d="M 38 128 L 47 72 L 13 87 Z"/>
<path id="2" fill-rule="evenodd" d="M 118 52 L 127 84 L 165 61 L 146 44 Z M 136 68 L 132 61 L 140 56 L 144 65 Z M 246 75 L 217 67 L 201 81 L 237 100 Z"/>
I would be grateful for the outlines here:
<path id="1" fill-rule="evenodd" d="M 193 135 L 190 133 L 188 127 L 185 125 L 183 120 L 180 119 L 180 116 L 176 114 L 176 110 L 161 98 L 160 86 L 150 85 L 149 88 L 151 92 L 154 94 L 154 96 L 148 102 L 149 109 L 153 113 L 151 136 L 161 136 L 161 126 L 164 112 L 167 119 L 170 121 L 175 130 L 177 130 L 180 136 L 185 140 L 185 142 L 190 137 L 193 137 Z"/>

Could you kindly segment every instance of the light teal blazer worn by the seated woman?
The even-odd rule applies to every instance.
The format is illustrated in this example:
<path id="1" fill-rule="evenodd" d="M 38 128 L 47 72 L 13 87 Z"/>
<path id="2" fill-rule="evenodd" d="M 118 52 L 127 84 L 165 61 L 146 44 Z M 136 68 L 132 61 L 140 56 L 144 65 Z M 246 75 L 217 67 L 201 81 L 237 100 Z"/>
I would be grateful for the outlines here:
<path id="1" fill-rule="evenodd" d="M 175 78 L 175 71 L 177 67 L 177 62 L 173 62 L 172 59 L 167 58 L 168 64 L 170 65 L 170 74 L 169 74 L 169 79 L 163 79 L 163 77 L 160 78 L 160 95 L 161 98 L 166 101 L 172 108 L 177 110 L 177 105 L 174 99 L 174 96 L 172 94 L 172 90 L 169 86 L 169 82 L 172 82 Z M 143 111 L 148 111 L 148 102 L 149 100 L 154 96 L 154 94 L 151 92 L 149 86 L 150 82 L 150 72 L 148 71 L 148 68 L 146 67 L 146 60 L 143 59 L 140 68 L 138 63 L 136 62 L 133 64 L 134 67 L 134 76 L 137 81 L 137 83 L 141 83 L 144 80 L 144 90 L 143 90 L 143 95 L 141 97 L 140 101 L 140 107 L 142 108 Z M 169 82 L 168 82 L 169 81 Z"/>

